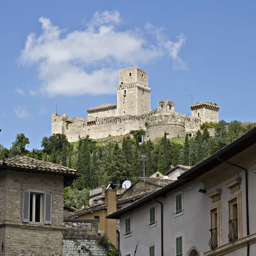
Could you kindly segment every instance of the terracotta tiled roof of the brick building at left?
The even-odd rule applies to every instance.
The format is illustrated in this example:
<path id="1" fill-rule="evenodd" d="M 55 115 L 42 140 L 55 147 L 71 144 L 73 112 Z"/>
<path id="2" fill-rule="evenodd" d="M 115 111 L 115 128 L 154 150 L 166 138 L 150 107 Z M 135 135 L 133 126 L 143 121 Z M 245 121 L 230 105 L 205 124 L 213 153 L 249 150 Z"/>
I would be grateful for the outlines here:
<path id="1" fill-rule="evenodd" d="M 7 158 L 0 161 L 0 169 L 4 169 L 7 166 L 14 168 L 16 167 L 46 172 L 58 172 L 60 174 L 76 175 L 76 170 L 74 169 L 24 156 Z"/>

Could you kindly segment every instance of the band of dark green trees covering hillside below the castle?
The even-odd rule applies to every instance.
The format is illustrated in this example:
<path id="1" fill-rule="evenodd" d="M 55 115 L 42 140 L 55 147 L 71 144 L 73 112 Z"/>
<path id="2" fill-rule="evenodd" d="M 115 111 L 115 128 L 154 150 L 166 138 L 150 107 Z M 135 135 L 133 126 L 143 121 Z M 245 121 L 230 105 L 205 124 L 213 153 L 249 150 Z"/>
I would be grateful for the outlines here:
<path id="1" fill-rule="evenodd" d="M 80 177 L 72 187 L 65 189 L 64 199 L 70 206 L 81 207 L 89 199 L 89 189 L 106 186 L 110 182 L 120 186 L 124 180 L 134 182 L 137 177 L 141 177 L 141 154 L 146 154 L 146 177 L 156 171 L 164 174 L 170 166 L 178 164 L 194 166 L 253 128 L 255 123 L 243 125 L 239 121 L 226 123 L 222 120 L 214 126 L 213 137 L 207 130 L 209 124 L 205 124 L 195 137 L 186 135 L 185 140 L 167 139 L 165 133 L 162 138 L 141 143 L 145 131 L 139 130 L 131 131 L 120 143 L 107 145 L 89 137 L 79 139 L 78 143 L 69 143 L 65 135 L 53 134 L 42 139 L 41 150 L 32 151 L 26 150 L 29 139 L 24 134 L 17 134 L 9 150 L 0 145 L 0 157 L 26 155 L 77 169 Z"/>

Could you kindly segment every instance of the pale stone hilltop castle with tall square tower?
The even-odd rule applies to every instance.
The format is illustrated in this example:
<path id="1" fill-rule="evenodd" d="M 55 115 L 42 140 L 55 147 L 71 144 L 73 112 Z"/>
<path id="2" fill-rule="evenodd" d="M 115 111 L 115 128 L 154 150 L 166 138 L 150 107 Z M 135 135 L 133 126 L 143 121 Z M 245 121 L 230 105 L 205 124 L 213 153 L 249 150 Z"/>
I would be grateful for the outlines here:
<path id="1" fill-rule="evenodd" d="M 117 104 L 102 104 L 87 110 L 86 119 L 52 114 L 52 134 L 65 134 L 69 142 L 89 135 L 92 139 L 128 134 L 144 129 L 145 140 L 162 137 L 183 137 L 195 133 L 202 122 L 218 122 L 219 106 L 201 102 L 190 106 L 192 115 L 175 111 L 175 103 L 163 100 L 157 110 L 150 108 L 151 87 L 148 75 L 137 67 L 119 71 Z"/>

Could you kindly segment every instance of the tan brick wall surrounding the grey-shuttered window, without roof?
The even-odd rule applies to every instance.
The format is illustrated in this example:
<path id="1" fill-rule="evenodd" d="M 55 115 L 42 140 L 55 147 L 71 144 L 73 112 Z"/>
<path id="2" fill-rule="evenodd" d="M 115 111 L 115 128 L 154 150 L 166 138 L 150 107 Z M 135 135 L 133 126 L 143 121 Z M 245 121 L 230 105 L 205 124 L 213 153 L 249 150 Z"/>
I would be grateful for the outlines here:
<path id="1" fill-rule="evenodd" d="M 0 255 L 62 256 L 63 176 L 4 170 L 0 184 L 0 190 L 4 184 L 0 205 L 0 245 L 4 247 Z M 22 222 L 23 191 L 52 194 L 52 224 Z"/>

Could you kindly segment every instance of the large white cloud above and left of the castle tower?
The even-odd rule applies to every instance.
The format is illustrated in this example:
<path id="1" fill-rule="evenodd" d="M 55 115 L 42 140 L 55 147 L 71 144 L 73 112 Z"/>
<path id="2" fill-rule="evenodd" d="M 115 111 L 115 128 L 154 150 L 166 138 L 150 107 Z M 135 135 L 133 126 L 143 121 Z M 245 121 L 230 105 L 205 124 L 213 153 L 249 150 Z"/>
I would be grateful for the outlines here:
<path id="1" fill-rule="evenodd" d="M 174 69 L 186 70 L 179 52 L 186 37 L 175 42 L 163 34 L 163 28 L 147 23 L 145 29 L 121 31 L 119 12 L 96 12 L 83 31 L 65 34 L 51 20 L 41 17 L 42 34 L 28 35 L 20 55 L 21 64 L 38 64 L 41 88 L 30 90 L 35 96 L 76 96 L 115 93 L 119 69 L 146 65 L 149 61 L 168 56 Z M 145 33 L 146 32 L 146 33 Z M 157 40 L 149 42 L 148 36 Z"/>

